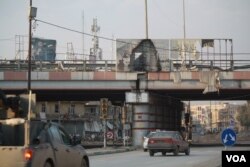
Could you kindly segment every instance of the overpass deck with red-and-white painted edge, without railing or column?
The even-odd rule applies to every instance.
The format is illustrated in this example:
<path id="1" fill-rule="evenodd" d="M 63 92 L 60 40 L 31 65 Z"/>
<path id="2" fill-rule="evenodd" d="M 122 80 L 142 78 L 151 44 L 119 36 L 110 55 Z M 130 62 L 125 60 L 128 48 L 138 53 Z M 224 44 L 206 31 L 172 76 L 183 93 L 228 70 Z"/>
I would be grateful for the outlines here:
<path id="1" fill-rule="evenodd" d="M 1 89 L 23 93 L 27 78 L 27 71 L 0 71 Z M 180 100 L 248 100 L 250 71 L 32 71 L 31 88 L 39 101 L 104 96 L 124 101 L 125 92 L 135 90 Z"/>

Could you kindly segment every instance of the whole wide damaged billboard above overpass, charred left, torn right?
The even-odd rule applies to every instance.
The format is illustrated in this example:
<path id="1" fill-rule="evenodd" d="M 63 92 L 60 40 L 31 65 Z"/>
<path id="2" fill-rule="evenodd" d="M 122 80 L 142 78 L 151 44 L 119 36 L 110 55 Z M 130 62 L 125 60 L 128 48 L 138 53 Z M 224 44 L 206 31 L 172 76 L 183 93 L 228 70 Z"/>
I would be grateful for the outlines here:
<path id="1" fill-rule="evenodd" d="M 232 39 L 117 39 L 117 71 L 207 68 L 211 61 L 225 69 L 233 60 L 232 45 Z"/>

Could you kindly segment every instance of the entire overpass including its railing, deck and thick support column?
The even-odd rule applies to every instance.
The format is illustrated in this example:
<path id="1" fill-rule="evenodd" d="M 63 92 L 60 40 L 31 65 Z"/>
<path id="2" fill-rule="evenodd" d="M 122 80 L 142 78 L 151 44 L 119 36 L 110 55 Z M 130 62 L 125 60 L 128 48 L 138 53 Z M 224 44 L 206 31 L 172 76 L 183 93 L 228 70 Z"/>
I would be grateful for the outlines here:
<path id="1" fill-rule="evenodd" d="M 245 62 L 246 63 L 246 62 Z M 74 63 L 76 64 L 76 63 Z M 31 89 L 37 101 L 92 101 L 108 98 L 113 104 L 131 103 L 134 144 L 152 129 L 180 129 L 184 100 L 249 100 L 250 71 L 235 66 L 221 70 L 210 63 L 198 70 L 121 72 L 115 64 L 33 63 Z M 90 69 L 91 67 L 91 69 Z M 234 70 L 237 69 L 237 70 Z M 27 64 L 0 64 L 0 88 L 6 94 L 27 92 Z M 127 94 L 136 95 L 132 102 Z M 141 95 L 146 93 L 146 100 Z"/>

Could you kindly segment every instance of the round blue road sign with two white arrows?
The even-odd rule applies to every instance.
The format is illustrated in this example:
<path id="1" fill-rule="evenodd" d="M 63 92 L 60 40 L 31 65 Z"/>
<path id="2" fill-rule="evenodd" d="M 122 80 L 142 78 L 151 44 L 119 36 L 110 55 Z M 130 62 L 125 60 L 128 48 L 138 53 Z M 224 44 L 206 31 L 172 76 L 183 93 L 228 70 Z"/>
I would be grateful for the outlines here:
<path id="1" fill-rule="evenodd" d="M 221 141 L 224 146 L 233 146 L 236 142 L 236 133 L 233 129 L 225 129 L 221 134 Z"/>

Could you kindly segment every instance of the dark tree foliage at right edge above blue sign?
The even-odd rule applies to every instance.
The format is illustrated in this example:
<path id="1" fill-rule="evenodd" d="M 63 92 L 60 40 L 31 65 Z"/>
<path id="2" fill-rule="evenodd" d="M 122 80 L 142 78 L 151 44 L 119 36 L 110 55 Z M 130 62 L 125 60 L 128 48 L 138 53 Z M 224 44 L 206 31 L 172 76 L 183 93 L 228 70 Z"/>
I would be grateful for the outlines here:
<path id="1" fill-rule="evenodd" d="M 240 124 L 242 126 L 245 126 L 248 130 L 248 128 L 250 127 L 250 101 L 248 101 L 246 105 L 240 107 L 237 119 Z"/>

